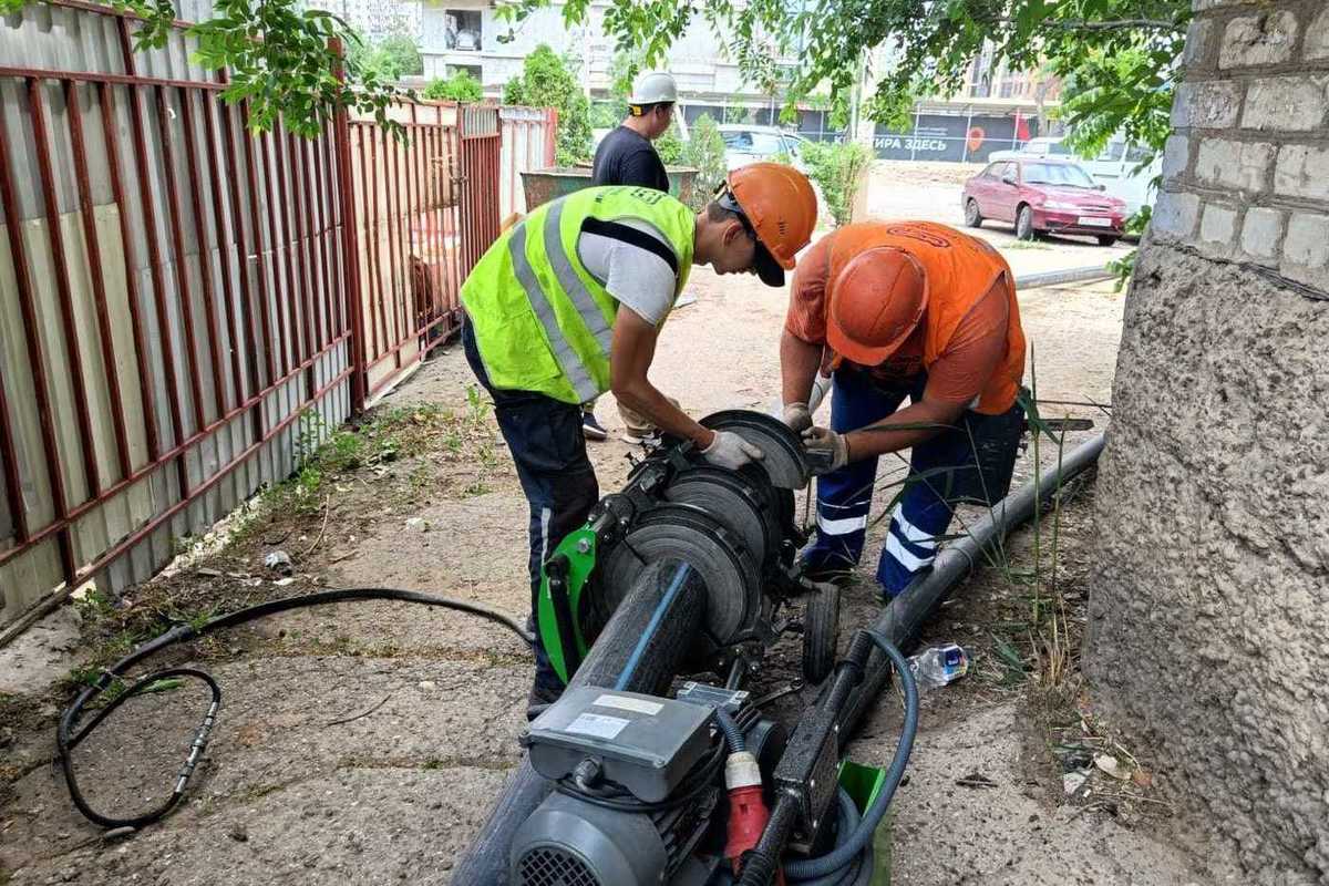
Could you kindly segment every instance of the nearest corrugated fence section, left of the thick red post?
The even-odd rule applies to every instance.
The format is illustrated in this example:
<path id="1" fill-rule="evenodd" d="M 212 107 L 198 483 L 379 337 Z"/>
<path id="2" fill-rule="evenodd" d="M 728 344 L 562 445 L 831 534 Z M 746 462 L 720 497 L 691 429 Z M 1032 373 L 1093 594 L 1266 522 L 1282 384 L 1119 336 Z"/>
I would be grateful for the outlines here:
<path id="1" fill-rule="evenodd" d="M 126 56 L 122 23 L 0 27 L 0 623 L 146 579 L 290 476 L 311 401 L 350 413 L 330 139 L 250 137 L 181 32 Z"/>

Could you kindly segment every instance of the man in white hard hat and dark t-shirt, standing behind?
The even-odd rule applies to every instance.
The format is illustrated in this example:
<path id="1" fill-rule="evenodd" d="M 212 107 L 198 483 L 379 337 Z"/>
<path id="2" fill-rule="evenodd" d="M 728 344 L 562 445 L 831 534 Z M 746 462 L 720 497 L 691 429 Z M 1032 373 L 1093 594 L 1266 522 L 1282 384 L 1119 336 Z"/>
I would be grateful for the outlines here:
<path id="1" fill-rule="evenodd" d="M 671 74 L 657 72 L 643 74 L 627 98 L 627 118 L 610 132 L 595 149 L 594 185 L 637 185 L 668 193 L 664 162 L 655 151 L 653 141 L 668 130 L 678 101 L 678 85 Z M 590 440 L 605 440 L 609 433 L 595 420 L 593 402 L 582 408 L 582 433 Z M 646 418 L 631 409 L 618 408 L 627 425 L 625 441 L 645 442 L 655 433 Z"/>

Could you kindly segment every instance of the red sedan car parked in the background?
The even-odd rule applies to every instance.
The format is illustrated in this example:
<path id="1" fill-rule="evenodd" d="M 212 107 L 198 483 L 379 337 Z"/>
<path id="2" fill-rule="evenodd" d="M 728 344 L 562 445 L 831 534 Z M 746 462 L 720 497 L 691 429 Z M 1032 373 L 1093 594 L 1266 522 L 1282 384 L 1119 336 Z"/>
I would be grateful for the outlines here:
<path id="1" fill-rule="evenodd" d="M 1103 193 L 1103 186 L 1079 163 L 1049 157 L 999 159 L 965 182 L 965 223 L 983 219 L 1014 222 L 1015 236 L 1080 234 L 1111 246 L 1124 232 L 1126 202 Z"/>

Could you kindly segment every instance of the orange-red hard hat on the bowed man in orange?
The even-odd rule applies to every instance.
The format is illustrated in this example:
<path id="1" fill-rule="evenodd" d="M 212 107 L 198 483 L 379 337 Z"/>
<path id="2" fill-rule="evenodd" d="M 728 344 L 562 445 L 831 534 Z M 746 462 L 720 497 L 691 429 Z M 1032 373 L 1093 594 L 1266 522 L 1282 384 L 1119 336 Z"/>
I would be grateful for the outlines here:
<path id="1" fill-rule="evenodd" d="M 918 259 L 878 246 L 855 255 L 831 280 L 827 344 L 874 367 L 904 344 L 928 308 L 928 278 Z"/>

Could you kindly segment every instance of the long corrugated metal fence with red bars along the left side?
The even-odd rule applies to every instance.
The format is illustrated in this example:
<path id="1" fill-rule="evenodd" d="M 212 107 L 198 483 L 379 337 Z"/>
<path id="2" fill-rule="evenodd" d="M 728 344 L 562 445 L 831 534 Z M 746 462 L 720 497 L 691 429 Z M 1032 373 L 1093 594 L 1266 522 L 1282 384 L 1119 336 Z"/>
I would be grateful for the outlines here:
<path id="1" fill-rule="evenodd" d="M 452 332 L 505 171 L 496 108 L 253 135 L 182 32 L 136 54 L 80 0 L 7 27 L 45 64 L 0 66 L 0 642 L 155 573 Z"/>

